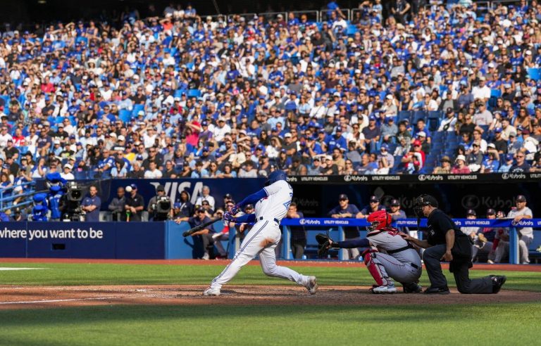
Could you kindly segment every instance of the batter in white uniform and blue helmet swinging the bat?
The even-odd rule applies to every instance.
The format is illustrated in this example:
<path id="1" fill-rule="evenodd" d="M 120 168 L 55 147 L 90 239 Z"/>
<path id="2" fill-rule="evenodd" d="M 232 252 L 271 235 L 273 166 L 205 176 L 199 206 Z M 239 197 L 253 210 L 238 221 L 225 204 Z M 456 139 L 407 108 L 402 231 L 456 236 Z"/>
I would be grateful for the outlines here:
<path id="1" fill-rule="evenodd" d="M 220 295 L 222 286 L 234 278 L 244 264 L 247 264 L 256 255 L 259 255 L 261 268 L 266 275 L 287 278 L 306 287 L 310 294 L 316 293 L 318 289 L 316 276 L 301 275 L 297 271 L 276 265 L 274 249 L 281 237 L 279 225 L 287 214 L 292 196 L 293 189 L 287 183 L 287 175 L 285 172 L 277 170 L 270 173 L 264 188 L 244 198 L 229 212 L 225 212 L 223 219 L 226 221 L 255 224 L 244 237 L 244 241 L 242 241 L 240 249 L 231 263 L 223 269 L 220 275 L 214 278 L 211 286 L 204 290 L 203 295 Z M 244 206 L 249 204 L 255 205 L 254 214 L 235 217 Z"/>

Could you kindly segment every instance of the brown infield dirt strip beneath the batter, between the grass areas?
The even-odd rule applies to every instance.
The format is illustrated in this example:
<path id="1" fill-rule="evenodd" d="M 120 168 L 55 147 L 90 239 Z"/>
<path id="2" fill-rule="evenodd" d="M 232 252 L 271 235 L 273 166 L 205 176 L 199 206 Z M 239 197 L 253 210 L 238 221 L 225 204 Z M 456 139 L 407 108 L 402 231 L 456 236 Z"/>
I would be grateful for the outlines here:
<path id="1" fill-rule="evenodd" d="M 206 286 L 0 286 L 0 309 L 89 305 L 409 305 L 540 301 L 541 293 L 502 290 L 497 295 L 373 295 L 368 287 L 323 286 L 309 295 L 299 286 L 224 286 L 203 297 Z"/>

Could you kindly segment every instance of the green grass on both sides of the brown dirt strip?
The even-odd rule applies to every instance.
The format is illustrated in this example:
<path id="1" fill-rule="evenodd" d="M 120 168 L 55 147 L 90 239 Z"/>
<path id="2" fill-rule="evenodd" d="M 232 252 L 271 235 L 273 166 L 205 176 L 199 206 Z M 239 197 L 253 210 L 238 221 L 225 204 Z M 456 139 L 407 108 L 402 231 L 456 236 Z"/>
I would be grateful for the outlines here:
<path id="1" fill-rule="evenodd" d="M 1 264 L 15 285 L 206 284 L 222 266 Z M 293 266 L 292 266 L 293 267 Z M 364 268 L 294 267 L 322 286 L 368 286 Z M 500 271 L 504 288 L 541 291 L 541 273 Z M 448 273 L 446 273 L 448 274 Z M 472 271 L 472 277 L 492 274 Z M 451 276 L 447 275 L 448 278 Z M 421 284 L 426 286 L 423 275 Z M 283 285 L 259 267 L 232 284 Z M 449 281 L 452 283 L 452 280 Z M 218 298 L 219 299 L 219 298 Z M 392 306 L 129 306 L 0 311 L 0 345 L 516 345 L 537 343 L 541 302 Z"/>

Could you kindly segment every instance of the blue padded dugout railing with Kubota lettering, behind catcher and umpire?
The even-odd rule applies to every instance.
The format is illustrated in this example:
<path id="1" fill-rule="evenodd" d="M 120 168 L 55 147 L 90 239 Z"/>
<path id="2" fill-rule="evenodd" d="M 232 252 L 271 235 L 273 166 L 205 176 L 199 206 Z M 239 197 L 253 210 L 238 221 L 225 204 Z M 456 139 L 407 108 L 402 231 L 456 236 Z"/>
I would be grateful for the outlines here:
<path id="1" fill-rule="evenodd" d="M 518 264 L 518 228 L 532 227 L 533 229 L 541 229 L 541 219 L 524 219 L 521 222 L 513 222 L 512 219 L 453 219 L 456 226 L 459 227 L 490 227 L 490 228 L 506 228 L 509 229 L 509 263 Z M 360 231 L 364 231 L 368 223 L 365 219 L 316 219 L 316 218 L 301 218 L 301 219 L 282 219 L 280 224 L 282 227 L 282 257 L 284 259 L 293 259 L 291 252 L 291 227 L 304 227 L 307 233 L 308 246 L 315 245 L 313 239 L 316 233 L 330 231 L 330 237 L 335 241 L 344 240 L 344 227 L 359 227 Z M 421 232 L 417 232 L 417 219 L 401 219 L 393 222 L 393 226 L 399 229 L 408 227 L 413 236 L 418 236 L 422 239 L 423 229 L 426 226 L 426 219 L 421 219 Z M 366 231 L 361 233 L 366 235 Z M 530 244 L 530 257 L 538 257 L 535 249 L 540 243 L 539 237 L 535 238 Z M 342 260 L 342 251 L 338 251 L 338 259 Z"/>

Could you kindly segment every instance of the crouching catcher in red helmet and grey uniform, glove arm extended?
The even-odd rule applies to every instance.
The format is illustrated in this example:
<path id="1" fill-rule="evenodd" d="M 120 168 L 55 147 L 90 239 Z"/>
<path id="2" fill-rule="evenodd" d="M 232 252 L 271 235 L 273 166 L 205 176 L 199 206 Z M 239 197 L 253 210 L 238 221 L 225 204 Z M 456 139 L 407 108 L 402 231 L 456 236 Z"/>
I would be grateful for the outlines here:
<path id="1" fill-rule="evenodd" d="M 363 252 L 364 264 L 375 279 L 372 293 L 397 293 L 392 279 L 404 287 L 404 293 L 421 293 L 418 285 L 421 277 L 421 257 L 413 246 L 405 241 L 400 232 L 391 227 L 392 217 L 385 210 L 378 210 L 368 215 L 368 234 L 366 238 L 347 241 L 332 241 L 327 235 L 316 236 L 319 255 L 326 255 L 329 248 L 368 248 Z"/>

